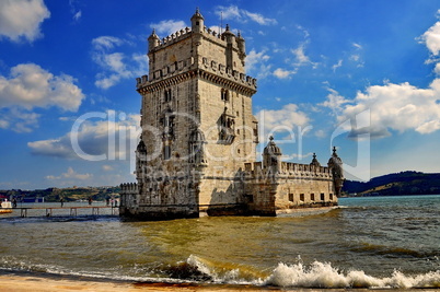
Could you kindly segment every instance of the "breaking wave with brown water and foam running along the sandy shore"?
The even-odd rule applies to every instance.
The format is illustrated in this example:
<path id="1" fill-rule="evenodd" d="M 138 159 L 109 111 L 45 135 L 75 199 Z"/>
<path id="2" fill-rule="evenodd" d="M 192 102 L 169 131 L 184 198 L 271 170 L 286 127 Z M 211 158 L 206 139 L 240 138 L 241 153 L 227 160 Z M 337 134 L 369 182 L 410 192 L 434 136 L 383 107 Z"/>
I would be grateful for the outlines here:
<path id="1" fill-rule="evenodd" d="M 246 284 L 304 289 L 440 288 L 440 270 L 415 276 L 394 271 L 390 277 L 378 278 L 369 276 L 362 270 L 339 270 L 329 262 L 314 261 L 310 265 L 304 265 L 301 260 L 299 261 L 293 265 L 280 262 L 271 271 L 262 271 L 246 265 L 219 262 L 190 255 L 185 261 L 174 265 L 161 265 L 155 268 L 137 267 L 137 269 L 143 271 L 143 276 L 128 276 L 117 269 L 112 272 L 102 270 L 72 271 L 63 267 L 31 265 L 15 258 L 2 258 L 0 270 L 163 283 Z"/>

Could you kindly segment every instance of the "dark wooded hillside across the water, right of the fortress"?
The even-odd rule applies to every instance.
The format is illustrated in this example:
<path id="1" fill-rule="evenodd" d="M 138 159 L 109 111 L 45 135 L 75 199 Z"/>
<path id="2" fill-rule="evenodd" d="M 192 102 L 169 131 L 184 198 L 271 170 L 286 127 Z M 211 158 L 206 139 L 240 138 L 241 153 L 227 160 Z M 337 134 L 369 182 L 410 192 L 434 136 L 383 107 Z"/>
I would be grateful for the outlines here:
<path id="1" fill-rule="evenodd" d="M 343 191 L 367 196 L 436 195 L 440 194 L 440 174 L 402 172 L 374 177 L 367 183 L 346 180 Z"/>

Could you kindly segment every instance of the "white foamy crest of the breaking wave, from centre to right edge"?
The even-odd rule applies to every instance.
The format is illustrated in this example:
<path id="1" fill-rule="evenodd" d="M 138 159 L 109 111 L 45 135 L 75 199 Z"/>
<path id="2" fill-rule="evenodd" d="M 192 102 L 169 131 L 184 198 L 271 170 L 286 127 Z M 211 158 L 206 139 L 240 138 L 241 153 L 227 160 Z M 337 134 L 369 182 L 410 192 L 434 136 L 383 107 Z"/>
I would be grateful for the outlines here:
<path id="1" fill-rule="evenodd" d="M 298 262 L 294 265 L 278 264 L 266 279 L 243 271 L 243 267 L 230 269 L 215 266 L 213 262 L 197 256 L 189 256 L 187 264 L 197 267 L 212 278 L 213 282 L 255 285 L 276 285 L 282 288 L 440 288 L 440 270 L 424 275 L 406 276 L 394 271 L 391 277 L 378 278 L 367 275 L 362 270 L 344 272 L 328 262 L 314 261 L 311 265 Z"/>

